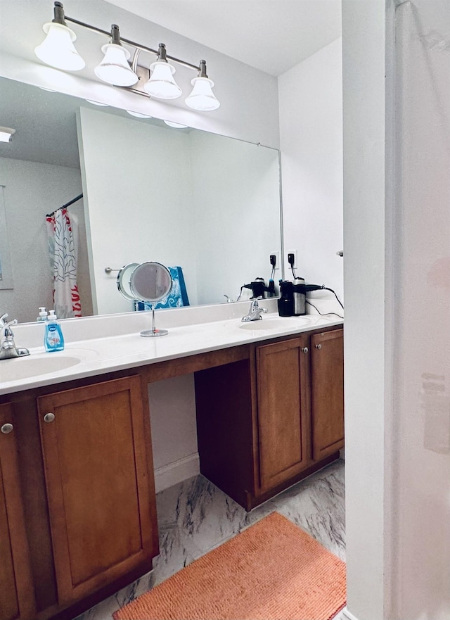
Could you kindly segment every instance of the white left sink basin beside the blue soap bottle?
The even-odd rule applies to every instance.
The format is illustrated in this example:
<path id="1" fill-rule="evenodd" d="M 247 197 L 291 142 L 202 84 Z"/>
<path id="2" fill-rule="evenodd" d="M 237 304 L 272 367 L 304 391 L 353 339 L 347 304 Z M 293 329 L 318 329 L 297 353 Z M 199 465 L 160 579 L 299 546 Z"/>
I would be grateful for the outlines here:
<path id="1" fill-rule="evenodd" d="M 0 360 L 0 381 L 19 381 L 20 379 L 31 379 L 40 377 L 41 374 L 50 374 L 75 366 L 82 362 L 88 355 L 78 355 L 77 353 L 52 352 L 52 353 L 31 353 L 23 358 L 12 358 L 11 360 Z"/>

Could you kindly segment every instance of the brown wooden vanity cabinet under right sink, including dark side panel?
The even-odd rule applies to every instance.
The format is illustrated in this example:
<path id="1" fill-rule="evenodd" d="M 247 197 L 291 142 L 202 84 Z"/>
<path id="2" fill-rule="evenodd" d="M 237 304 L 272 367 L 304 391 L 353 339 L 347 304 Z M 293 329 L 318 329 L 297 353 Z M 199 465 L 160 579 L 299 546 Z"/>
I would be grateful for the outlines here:
<path id="1" fill-rule="evenodd" d="M 255 344 L 248 360 L 195 373 L 200 472 L 246 510 L 338 458 L 342 334 Z"/>

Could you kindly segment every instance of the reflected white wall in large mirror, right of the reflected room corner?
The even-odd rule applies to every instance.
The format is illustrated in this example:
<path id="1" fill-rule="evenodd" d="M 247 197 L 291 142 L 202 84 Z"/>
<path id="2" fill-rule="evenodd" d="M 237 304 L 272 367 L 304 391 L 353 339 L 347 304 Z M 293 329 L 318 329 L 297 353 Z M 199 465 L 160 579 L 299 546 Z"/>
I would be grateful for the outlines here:
<path id="1" fill-rule="evenodd" d="M 269 284 L 269 255 L 280 255 L 278 151 L 195 132 L 191 158 L 198 303 L 236 300 L 256 277 Z"/>

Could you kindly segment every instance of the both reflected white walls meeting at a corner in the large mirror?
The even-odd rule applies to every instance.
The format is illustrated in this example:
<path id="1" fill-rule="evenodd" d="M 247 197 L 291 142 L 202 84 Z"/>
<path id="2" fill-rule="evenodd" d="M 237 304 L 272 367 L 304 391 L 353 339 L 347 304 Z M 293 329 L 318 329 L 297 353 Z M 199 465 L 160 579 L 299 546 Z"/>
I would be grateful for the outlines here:
<path id="1" fill-rule="evenodd" d="M 181 265 L 191 305 L 268 281 L 281 248 L 278 151 L 85 108 L 79 144 L 96 312 L 131 309 L 108 265 Z"/>

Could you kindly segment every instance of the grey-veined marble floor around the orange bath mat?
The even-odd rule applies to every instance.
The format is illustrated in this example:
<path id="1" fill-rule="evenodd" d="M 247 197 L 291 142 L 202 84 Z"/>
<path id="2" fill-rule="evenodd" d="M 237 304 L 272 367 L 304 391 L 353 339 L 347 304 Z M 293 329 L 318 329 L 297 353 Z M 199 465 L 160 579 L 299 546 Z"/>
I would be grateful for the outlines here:
<path id="1" fill-rule="evenodd" d="M 342 460 L 328 465 L 249 513 L 202 475 L 161 491 L 156 496 L 156 503 L 160 555 L 153 561 L 153 571 L 76 620 L 112 620 L 113 612 L 127 602 L 275 510 L 345 559 Z M 345 617 L 340 612 L 334 620 L 345 620 Z"/>

